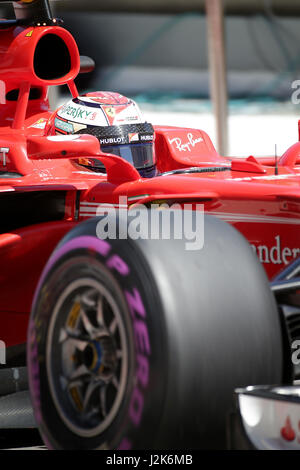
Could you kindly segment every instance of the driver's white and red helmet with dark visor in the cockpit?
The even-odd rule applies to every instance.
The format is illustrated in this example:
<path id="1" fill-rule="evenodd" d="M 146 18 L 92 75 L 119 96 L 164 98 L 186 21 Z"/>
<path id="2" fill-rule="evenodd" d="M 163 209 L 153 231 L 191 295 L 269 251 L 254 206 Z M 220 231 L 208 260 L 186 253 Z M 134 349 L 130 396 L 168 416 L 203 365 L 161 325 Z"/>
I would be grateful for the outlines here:
<path id="1" fill-rule="evenodd" d="M 102 152 L 124 158 L 144 178 L 156 175 L 154 129 L 143 120 L 138 105 L 119 93 L 94 92 L 73 98 L 57 110 L 53 124 L 55 134 L 94 135 Z M 105 171 L 99 160 L 79 159 L 79 163 Z"/>

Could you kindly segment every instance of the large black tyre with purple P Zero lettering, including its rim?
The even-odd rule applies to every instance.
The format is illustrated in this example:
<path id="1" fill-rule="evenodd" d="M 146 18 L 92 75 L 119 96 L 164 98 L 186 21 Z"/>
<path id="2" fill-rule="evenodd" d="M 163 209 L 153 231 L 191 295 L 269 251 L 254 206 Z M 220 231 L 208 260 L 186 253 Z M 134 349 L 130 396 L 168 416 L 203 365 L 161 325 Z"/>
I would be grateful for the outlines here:
<path id="1" fill-rule="evenodd" d="M 234 388 L 282 380 L 263 268 L 209 216 L 196 251 L 172 227 L 170 240 L 99 239 L 100 220 L 61 241 L 36 291 L 27 359 L 45 443 L 225 448 Z"/>

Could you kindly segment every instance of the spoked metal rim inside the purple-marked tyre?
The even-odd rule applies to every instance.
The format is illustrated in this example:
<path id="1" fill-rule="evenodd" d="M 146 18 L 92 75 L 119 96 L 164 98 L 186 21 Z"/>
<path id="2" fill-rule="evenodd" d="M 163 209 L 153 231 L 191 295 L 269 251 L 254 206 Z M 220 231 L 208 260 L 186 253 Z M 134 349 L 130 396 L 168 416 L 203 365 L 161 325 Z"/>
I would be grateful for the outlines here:
<path id="1" fill-rule="evenodd" d="M 59 296 L 49 325 L 46 364 L 65 425 L 82 437 L 103 433 L 120 409 L 128 375 L 124 319 L 103 284 L 78 279 Z"/>

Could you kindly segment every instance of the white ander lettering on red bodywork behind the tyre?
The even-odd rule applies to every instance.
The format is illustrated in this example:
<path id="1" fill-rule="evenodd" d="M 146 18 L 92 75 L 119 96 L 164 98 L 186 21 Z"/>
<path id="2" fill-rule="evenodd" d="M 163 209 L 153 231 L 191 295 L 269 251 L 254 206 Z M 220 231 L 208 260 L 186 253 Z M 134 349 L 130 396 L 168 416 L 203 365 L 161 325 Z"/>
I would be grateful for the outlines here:
<path id="1" fill-rule="evenodd" d="M 274 245 L 251 245 L 261 263 L 264 264 L 289 264 L 300 256 L 300 248 L 283 246 L 280 235 L 275 237 Z"/>

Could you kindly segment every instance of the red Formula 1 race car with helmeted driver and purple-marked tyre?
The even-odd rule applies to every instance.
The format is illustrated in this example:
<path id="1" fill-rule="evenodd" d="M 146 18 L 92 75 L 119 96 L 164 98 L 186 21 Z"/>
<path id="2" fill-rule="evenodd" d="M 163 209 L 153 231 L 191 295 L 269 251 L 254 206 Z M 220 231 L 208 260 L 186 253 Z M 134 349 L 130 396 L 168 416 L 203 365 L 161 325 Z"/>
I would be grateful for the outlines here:
<path id="1" fill-rule="evenodd" d="M 0 427 L 35 425 L 30 393 L 49 448 L 225 448 L 236 388 L 299 376 L 300 142 L 226 158 L 117 93 L 79 96 L 92 61 L 48 0 L 14 8 L 0 22 Z M 72 97 L 53 112 L 62 84 Z"/>

